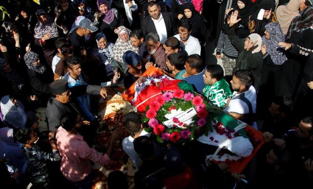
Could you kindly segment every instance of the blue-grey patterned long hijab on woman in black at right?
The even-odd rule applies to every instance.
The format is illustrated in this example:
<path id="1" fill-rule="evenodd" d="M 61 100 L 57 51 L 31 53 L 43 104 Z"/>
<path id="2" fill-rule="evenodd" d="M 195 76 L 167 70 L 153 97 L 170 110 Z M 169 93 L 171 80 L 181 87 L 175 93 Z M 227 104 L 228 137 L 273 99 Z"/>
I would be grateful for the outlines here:
<path id="1" fill-rule="evenodd" d="M 275 65 L 284 64 L 287 60 L 285 49 L 278 45 L 279 42 L 285 42 L 282 28 L 278 23 L 269 23 L 265 25 L 265 29 L 269 33 L 269 39 L 266 39 L 265 35 L 262 37 L 266 51 Z"/>

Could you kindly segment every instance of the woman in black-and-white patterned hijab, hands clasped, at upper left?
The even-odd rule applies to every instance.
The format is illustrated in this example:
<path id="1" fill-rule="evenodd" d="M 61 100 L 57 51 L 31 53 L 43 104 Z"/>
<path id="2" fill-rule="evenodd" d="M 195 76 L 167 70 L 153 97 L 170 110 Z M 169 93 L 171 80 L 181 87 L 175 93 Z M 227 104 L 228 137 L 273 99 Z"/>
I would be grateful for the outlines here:
<path id="1" fill-rule="evenodd" d="M 59 37 L 58 28 L 43 9 L 37 10 L 36 16 L 38 22 L 34 29 L 35 44 L 42 47 L 45 60 L 51 67 L 52 59 L 57 53 L 55 50 L 55 40 Z"/>

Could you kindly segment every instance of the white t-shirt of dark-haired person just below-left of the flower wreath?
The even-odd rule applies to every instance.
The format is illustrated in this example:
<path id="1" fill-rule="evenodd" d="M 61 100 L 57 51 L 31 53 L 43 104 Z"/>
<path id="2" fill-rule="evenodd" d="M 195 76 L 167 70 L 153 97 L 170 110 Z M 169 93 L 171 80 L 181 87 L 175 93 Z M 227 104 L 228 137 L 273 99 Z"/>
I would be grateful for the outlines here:
<path id="1" fill-rule="evenodd" d="M 151 133 L 147 133 L 145 130 L 142 130 L 140 136 L 147 136 L 150 137 Z M 131 158 L 137 170 L 139 170 L 139 164 L 141 159 L 139 158 L 138 154 L 135 152 L 134 149 L 134 138 L 132 136 L 126 137 L 123 142 L 123 150 L 126 154 Z"/>

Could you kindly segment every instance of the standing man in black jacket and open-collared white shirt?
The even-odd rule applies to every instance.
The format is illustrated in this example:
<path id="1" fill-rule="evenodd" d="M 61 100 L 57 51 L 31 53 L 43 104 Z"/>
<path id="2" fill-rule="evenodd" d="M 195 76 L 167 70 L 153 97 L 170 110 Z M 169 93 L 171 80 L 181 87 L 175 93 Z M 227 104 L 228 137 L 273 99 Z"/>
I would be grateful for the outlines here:
<path id="1" fill-rule="evenodd" d="M 150 16 L 141 21 L 143 36 L 155 32 L 159 35 L 161 44 L 163 44 L 168 37 L 174 35 L 173 15 L 168 12 L 161 13 L 160 6 L 154 0 L 148 2 L 148 12 Z"/>

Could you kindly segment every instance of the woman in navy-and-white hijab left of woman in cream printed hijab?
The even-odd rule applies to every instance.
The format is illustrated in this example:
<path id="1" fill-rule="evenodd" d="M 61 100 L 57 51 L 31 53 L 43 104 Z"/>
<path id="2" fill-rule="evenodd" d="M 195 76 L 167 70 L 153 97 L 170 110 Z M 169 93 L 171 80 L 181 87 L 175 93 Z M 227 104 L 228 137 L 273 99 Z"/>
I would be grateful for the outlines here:
<path id="1" fill-rule="evenodd" d="M 93 56 L 105 65 L 107 75 L 110 77 L 113 74 L 111 59 L 113 55 L 114 44 L 107 41 L 104 33 L 97 33 L 96 36 L 97 48 L 94 49 Z"/>

